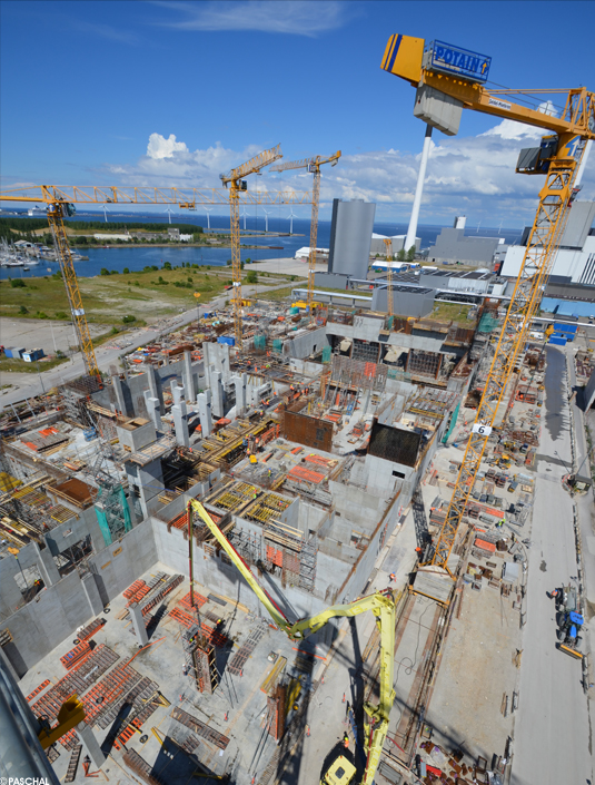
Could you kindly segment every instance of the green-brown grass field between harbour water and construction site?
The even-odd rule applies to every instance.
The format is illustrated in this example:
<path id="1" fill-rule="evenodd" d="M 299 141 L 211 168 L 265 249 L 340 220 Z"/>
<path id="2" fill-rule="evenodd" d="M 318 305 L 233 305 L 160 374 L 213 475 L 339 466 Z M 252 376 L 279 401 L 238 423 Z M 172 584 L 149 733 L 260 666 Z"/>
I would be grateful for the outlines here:
<path id="1" fill-rule="evenodd" d="M 230 278 L 231 271 L 227 268 L 198 273 L 176 267 L 81 277 L 79 287 L 89 322 L 121 324 L 125 316 L 135 316 L 137 324 L 142 324 L 178 313 L 181 307 L 195 306 L 195 292 L 200 293 L 200 305 L 208 303 L 221 294 Z M 9 281 L 0 282 L 0 316 L 44 318 L 44 314 L 48 318 L 69 318 L 70 307 L 61 278 L 27 278 L 24 283 L 22 288 L 14 288 Z"/>

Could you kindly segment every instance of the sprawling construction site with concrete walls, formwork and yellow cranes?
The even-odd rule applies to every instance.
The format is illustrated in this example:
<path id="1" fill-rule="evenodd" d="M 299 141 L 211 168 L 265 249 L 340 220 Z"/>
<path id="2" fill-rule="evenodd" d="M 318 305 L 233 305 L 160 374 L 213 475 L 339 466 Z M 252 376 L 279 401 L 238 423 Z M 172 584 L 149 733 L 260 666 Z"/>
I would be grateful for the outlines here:
<path id="1" fill-rule="evenodd" d="M 383 68 L 403 76 L 394 39 Z M 419 40 L 403 46 L 422 68 Z M 454 122 L 429 104 L 427 122 Z M 120 369 L 98 366 L 63 232 L 91 197 L 41 187 L 87 373 L 0 416 L 11 776 L 514 782 L 537 464 L 567 405 L 553 327 L 529 336 L 581 160 L 548 155 L 564 186 L 541 192 L 547 228 L 538 212 L 526 269 L 507 297 L 485 293 L 449 320 L 399 313 L 437 292 L 393 291 L 389 272 L 383 311 L 315 303 L 320 166 L 340 153 L 276 165 L 314 175 L 291 197 L 313 206 L 307 302 L 242 300 L 242 178 L 281 157 L 267 150 L 221 176 L 229 305 Z M 182 208 L 205 198 L 181 195 Z M 578 352 L 572 373 L 591 372 Z M 573 467 L 561 494 L 588 489 Z M 578 576 L 581 558 L 578 538 Z M 584 599 L 575 590 L 571 608 L 568 592 L 559 648 L 586 687 L 591 660 L 564 616 Z"/>

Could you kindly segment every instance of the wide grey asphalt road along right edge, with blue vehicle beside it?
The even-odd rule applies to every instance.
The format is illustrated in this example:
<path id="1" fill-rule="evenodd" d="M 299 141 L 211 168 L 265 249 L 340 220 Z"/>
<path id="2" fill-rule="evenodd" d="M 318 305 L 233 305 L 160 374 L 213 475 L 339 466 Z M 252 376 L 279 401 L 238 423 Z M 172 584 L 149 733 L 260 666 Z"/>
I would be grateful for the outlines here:
<path id="1" fill-rule="evenodd" d="M 547 593 L 577 575 L 573 504 L 561 480 L 572 462 L 564 354 L 548 347 L 527 580 L 526 628 L 512 785 L 593 783 L 589 706 L 581 663 L 556 649 Z M 555 353 L 555 354 L 553 354 Z M 557 355 L 557 356 L 556 356 Z M 547 458 L 545 458 L 547 457 Z"/>

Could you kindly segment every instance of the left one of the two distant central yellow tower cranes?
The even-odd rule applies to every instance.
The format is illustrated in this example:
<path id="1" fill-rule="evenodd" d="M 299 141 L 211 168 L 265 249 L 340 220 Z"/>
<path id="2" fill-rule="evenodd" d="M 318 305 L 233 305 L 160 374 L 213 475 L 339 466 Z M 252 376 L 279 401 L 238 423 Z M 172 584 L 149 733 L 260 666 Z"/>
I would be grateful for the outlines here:
<path id="1" fill-rule="evenodd" d="M 259 173 L 265 166 L 282 158 L 281 146 L 262 150 L 241 166 L 237 166 L 227 175 L 220 175 L 221 183 L 229 187 L 229 213 L 231 232 L 231 277 L 234 279 L 234 327 L 236 333 L 236 346 L 241 350 L 241 258 L 239 247 L 239 195 L 248 189 L 248 184 L 244 177 Z"/>

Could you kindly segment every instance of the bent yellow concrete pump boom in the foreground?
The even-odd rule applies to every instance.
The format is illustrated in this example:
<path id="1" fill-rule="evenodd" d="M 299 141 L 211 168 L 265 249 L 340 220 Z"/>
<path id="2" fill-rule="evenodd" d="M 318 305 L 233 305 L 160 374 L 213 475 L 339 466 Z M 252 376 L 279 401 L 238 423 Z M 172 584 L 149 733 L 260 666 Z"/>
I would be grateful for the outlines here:
<path id="1" fill-rule="evenodd" d="M 260 602 L 270 614 L 270 617 L 291 640 L 300 640 L 308 637 L 313 632 L 321 629 L 330 619 L 337 617 L 354 617 L 359 616 L 365 611 L 371 610 L 376 617 L 376 624 L 380 631 L 380 677 L 379 677 L 379 701 L 378 706 L 373 704 L 364 704 L 365 722 L 365 749 L 366 749 L 366 771 L 364 774 L 363 785 L 371 785 L 374 776 L 380 761 L 380 754 L 388 732 L 388 722 L 390 709 L 395 700 L 395 690 L 393 688 L 393 673 L 395 660 L 395 621 L 396 608 L 393 592 L 379 591 L 369 597 L 361 597 L 355 602 L 346 605 L 335 605 L 311 618 L 299 619 L 291 624 L 285 614 L 270 599 L 268 593 L 261 588 L 250 571 L 250 568 L 241 556 L 236 551 L 234 546 L 227 540 L 217 523 L 209 516 L 205 507 L 196 499 L 188 502 L 188 514 L 195 510 L 202 521 L 208 527 L 217 542 L 238 568 L 244 579 L 258 597 Z"/>

